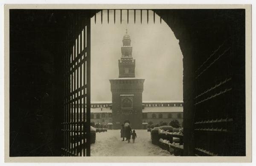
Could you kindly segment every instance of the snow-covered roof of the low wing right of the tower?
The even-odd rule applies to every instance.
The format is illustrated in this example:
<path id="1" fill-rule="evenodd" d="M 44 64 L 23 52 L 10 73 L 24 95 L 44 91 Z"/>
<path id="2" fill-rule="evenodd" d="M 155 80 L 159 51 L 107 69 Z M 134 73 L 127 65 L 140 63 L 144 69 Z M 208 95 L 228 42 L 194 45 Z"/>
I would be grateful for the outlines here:
<path id="1" fill-rule="evenodd" d="M 145 107 L 143 113 L 178 113 L 183 112 L 183 107 Z"/>

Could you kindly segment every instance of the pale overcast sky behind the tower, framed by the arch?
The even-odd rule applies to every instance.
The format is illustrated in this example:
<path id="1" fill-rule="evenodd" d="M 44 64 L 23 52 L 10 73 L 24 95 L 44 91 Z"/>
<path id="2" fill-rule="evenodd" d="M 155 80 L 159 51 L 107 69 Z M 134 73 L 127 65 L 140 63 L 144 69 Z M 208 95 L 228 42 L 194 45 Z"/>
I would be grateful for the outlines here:
<path id="1" fill-rule="evenodd" d="M 140 11 L 116 11 L 116 24 L 113 11 L 103 12 L 101 24 L 100 12 L 91 19 L 91 101 L 112 101 L 109 79 L 118 78 L 118 59 L 121 57 L 122 37 L 125 29 L 131 37 L 132 56 L 136 59 L 135 76 L 144 78 L 143 101 L 183 100 L 183 55 L 179 40 L 173 31 L 153 12 L 149 11 L 147 24 L 146 11 L 143 11 L 143 23 L 140 23 Z"/>

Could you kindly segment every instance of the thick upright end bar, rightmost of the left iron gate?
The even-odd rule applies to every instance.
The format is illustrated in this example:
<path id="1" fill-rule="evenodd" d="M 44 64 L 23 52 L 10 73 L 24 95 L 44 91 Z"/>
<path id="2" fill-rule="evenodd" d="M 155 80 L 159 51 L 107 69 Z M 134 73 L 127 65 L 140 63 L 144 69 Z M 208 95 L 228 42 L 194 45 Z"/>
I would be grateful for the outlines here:
<path id="1" fill-rule="evenodd" d="M 86 156 L 90 156 L 90 19 L 87 23 L 87 68 L 86 68 L 86 84 L 87 84 L 87 97 L 86 97 Z"/>

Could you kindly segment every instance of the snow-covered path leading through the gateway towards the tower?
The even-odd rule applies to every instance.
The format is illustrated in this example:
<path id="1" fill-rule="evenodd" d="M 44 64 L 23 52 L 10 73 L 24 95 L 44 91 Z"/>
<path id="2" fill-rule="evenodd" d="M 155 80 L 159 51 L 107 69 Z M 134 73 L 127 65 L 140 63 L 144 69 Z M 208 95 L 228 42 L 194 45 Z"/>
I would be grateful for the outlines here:
<path id="1" fill-rule="evenodd" d="M 136 130 L 135 143 L 122 141 L 120 130 L 97 132 L 96 142 L 91 144 L 91 156 L 172 156 L 167 150 L 151 143 L 150 132 Z"/>

